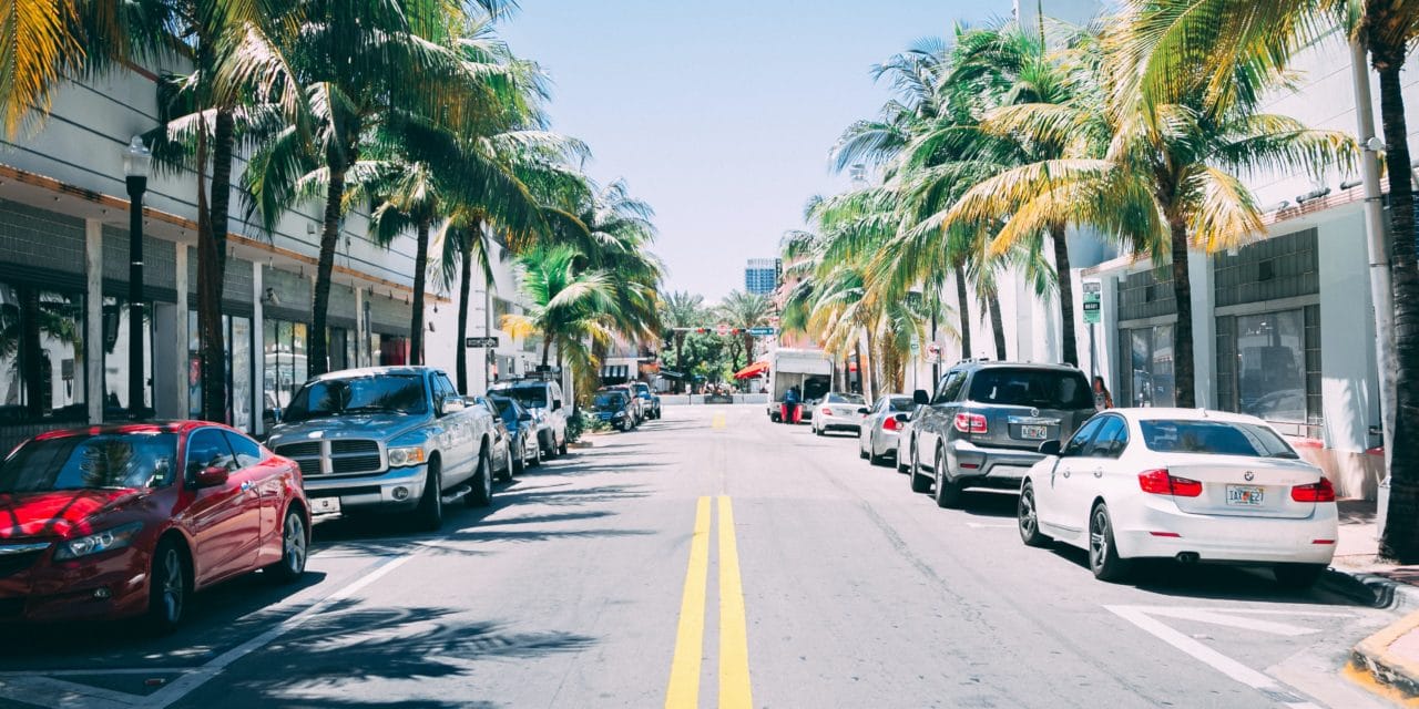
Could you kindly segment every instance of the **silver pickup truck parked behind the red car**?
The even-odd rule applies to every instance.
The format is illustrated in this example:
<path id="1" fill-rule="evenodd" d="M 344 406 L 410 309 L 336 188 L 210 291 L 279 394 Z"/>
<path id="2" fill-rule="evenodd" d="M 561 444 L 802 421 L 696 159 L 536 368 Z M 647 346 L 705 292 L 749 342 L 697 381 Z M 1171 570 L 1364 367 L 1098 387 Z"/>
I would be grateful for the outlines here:
<path id="1" fill-rule="evenodd" d="M 492 431 L 441 370 L 372 367 L 307 381 L 267 447 L 301 465 L 315 515 L 409 512 L 438 529 L 444 503 L 491 502 Z"/>

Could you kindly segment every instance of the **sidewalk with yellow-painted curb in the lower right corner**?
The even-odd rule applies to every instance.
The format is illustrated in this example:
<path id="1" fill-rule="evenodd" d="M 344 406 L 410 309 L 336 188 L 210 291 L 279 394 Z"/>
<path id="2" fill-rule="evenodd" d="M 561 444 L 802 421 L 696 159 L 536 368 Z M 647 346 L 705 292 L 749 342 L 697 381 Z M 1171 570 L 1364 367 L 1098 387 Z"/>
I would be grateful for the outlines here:
<path id="1" fill-rule="evenodd" d="M 1396 698 L 1409 703 L 1419 698 L 1419 566 L 1379 563 L 1376 533 L 1375 502 L 1340 501 L 1334 569 L 1375 588 L 1381 604 L 1405 613 L 1355 645 L 1351 676 L 1376 683 L 1374 689 L 1382 693 L 1398 692 Z"/>

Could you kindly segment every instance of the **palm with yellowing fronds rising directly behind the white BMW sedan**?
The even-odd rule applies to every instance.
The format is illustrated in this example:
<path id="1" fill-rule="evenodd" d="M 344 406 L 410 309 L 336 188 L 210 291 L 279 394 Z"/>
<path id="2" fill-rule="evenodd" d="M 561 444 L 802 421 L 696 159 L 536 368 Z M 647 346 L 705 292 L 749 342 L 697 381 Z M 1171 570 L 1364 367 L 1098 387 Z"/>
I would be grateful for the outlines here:
<path id="1" fill-rule="evenodd" d="M 1131 71 L 1127 60 L 1117 52 L 1104 58 L 1103 105 L 1029 104 L 988 118 L 995 130 L 1060 145 L 1103 130 L 1110 146 L 1104 157 L 1071 153 L 1006 170 L 972 187 L 945 221 L 979 224 L 1009 216 L 995 235 L 995 251 L 1054 224 L 1094 225 L 1132 241 L 1158 262 L 1171 261 L 1176 404 L 1195 407 L 1189 250 L 1215 252 L 1264 231 L 1239 174 L 1263 166 L 1323 173 L 1335 163 L 1351 166 L 1357 150 L 1344 133 L 1259 112 L 1271 77 L 1239 71 L 1233 79 L 1239 88 L 1210 105 L 1202 85 L 1172 102 L 1147 104 L 1115 85 Z"/>

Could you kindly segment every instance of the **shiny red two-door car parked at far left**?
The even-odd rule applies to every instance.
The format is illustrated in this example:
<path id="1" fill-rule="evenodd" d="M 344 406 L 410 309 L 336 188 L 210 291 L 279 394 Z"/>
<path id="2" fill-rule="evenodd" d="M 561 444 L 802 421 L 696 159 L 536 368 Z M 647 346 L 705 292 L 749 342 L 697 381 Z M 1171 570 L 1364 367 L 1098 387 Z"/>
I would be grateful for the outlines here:
<path id="1" fill-rule="evenodd" d="M 0 621 L 183 618 L 193 591 L 305 571 L 301 469 L 219 424 L 53 431 L 0 462 Z"/>

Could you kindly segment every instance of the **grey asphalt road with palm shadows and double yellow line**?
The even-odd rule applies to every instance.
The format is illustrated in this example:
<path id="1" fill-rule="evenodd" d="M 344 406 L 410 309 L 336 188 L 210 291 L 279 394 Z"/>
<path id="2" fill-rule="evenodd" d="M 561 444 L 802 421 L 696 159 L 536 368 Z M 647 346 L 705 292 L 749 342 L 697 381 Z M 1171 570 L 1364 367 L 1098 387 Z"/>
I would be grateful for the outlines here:
<path id="1" fill-rule="evenodd" d="M 941 510 L 850 437 L 674 407 L 460 509 L 316 526 L 305 583 L 197 597 L 176 635 L 35 628 L 0 706 L 1364 709 L 1386 611 L 1263 571 L 1094 581 L 1015 499 Z"/>

